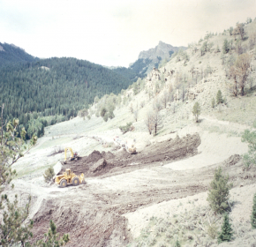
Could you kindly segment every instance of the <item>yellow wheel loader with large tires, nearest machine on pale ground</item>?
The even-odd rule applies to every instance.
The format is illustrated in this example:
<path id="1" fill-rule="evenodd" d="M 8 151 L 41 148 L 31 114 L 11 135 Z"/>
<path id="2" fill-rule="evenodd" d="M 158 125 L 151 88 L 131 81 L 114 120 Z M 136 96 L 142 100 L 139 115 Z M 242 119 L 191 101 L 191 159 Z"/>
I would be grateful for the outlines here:
<path id="1" fill-rule="evenodd" d="M 76 176 L 74 173 L 72 173 L 70 168 L 67 168 L 63 175 L 56 176 L 55 183 L 61 188 L 64 188 L 67 186 L 67 184 L 77 186 L 79 184 L 85 184 L 86 182 L 83 173 L 80 176 Z"/>

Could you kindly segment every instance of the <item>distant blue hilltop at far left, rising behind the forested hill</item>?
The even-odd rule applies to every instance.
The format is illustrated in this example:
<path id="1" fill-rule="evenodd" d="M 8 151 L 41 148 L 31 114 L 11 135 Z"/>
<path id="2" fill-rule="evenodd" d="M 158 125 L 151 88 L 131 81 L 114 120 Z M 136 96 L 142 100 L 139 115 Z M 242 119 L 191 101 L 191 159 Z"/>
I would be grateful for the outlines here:
<path id="1" fill-rule="evenodd" d="M 34 62 L 37 60 L 39 58 L 27 54 L 24 49 L 20 49 L 12 44 L 0 43 L 0 67 L 13 63 Z"/>

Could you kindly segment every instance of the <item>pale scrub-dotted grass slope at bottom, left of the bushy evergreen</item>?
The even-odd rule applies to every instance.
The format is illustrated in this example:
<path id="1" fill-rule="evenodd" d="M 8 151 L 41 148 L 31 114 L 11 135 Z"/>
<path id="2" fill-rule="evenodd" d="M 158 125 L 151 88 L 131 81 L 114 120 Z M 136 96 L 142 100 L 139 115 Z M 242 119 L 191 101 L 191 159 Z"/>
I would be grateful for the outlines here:
<path id="1" fill-rule="evenodd" d="M 192 202 L 189 202 L 192 204 Z M 164 218 L 151 217 L 146 228 L 141 230 L 139 237 L 127 247 L 142 246 L 207 246 L 217 243 L 217 232 L 221 230 L 222 216 L 215 215 L 207 206 L 194 207 L 192 211 Z M 236 237 L 236 236 L 235 236 Z"/>

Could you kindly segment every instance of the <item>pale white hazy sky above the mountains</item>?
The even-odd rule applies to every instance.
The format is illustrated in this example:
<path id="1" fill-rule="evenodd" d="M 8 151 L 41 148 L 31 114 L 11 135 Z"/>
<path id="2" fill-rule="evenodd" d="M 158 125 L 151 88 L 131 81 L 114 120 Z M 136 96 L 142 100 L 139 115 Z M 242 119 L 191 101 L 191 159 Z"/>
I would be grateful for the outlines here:
<path id="1" fill-rule="evenodd" d="M 0 42 L 128 67 L 159 41 L 187 46 L 248 17 L 256 0 L 0 0 Z"/>

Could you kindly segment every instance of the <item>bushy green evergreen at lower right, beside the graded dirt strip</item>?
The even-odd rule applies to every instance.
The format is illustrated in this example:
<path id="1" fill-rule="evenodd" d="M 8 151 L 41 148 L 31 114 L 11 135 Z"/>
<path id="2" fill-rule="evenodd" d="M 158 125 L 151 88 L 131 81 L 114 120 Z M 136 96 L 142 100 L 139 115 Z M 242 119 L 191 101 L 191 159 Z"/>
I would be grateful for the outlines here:
<path id="1" fill-rule="evenodd" d="M 222 168 L 215 169 L 215 178 L 210 183 L 207 201 L 215 213 L 224 213 L 228 208 L 228 199 L 230 198 L 231 184 L 229 176 L 222 175 Z"/>

